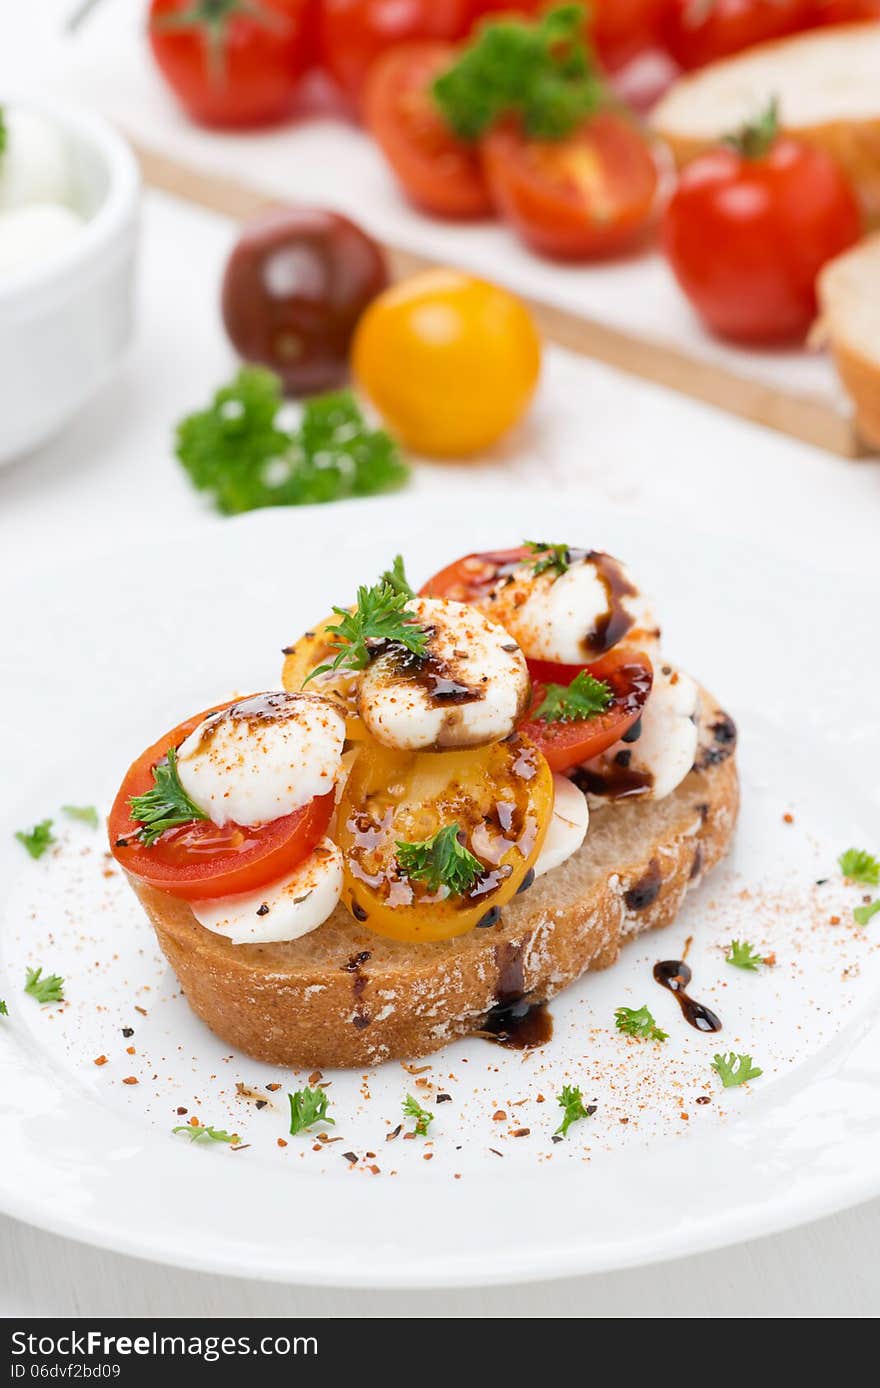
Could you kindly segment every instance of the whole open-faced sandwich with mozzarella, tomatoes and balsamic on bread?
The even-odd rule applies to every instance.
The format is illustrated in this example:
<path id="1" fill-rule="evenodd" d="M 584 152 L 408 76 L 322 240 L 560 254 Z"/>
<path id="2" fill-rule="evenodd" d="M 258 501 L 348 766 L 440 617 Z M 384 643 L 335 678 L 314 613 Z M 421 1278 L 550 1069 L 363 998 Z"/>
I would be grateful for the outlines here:
<path id="1" fill-rule="evenodd" d="M 258 1059 L 534 1044 L 730 844 L 736 729 L 608 554 L 472 554 L 418 595 L 397 559 L 285 657 L 283 691 L 150 747 L 110 819 L 190 1005 Z"/>

